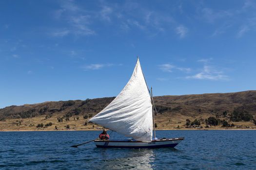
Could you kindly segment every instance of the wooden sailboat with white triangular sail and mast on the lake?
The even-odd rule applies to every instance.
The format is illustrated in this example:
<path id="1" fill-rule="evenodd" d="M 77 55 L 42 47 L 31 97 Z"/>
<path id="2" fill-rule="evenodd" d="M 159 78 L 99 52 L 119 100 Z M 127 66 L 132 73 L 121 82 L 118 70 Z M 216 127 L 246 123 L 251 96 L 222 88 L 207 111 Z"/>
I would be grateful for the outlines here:
<path id="1" fill-rule="evenodd" d="M 129 139 L 94 140 L 99 148 L 162 148 L 175 147 L 184 137 L 156 137 L 152 88 L 149 90 L 139 59 L 132 77 L 118 96 L 89 122 L 115 131 Z M 153 126 L 154 125 L 154 126 Z M 154 131 L 154 137 L 153 137 Z"/>

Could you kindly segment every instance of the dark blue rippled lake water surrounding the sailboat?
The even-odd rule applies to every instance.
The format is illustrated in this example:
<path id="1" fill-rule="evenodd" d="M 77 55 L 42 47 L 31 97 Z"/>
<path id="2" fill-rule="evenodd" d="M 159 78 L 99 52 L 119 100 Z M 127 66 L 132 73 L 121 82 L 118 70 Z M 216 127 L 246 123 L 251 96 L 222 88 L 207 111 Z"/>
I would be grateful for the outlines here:
<path id="1" fill-rule="evenodd" d="M 185 137 L 175 149 L 102 149 L 94 142 L 70 147 L 98 134 L 0 132 L 0 169 L 256 170 L 256 131 L 157 131 L 158 137 Z"/>

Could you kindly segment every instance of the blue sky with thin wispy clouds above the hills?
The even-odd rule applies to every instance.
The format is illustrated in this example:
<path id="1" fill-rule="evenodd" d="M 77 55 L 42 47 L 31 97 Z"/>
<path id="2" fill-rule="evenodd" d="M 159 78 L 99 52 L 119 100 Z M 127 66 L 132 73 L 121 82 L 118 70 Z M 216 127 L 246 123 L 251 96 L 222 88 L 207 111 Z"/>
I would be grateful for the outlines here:
<path id="1" fill-rule="evenodd" d="M 137 56 L 155 96 L 256 90 L 256 1 L 0 1 L 0 108 L 116 96 Z"/>

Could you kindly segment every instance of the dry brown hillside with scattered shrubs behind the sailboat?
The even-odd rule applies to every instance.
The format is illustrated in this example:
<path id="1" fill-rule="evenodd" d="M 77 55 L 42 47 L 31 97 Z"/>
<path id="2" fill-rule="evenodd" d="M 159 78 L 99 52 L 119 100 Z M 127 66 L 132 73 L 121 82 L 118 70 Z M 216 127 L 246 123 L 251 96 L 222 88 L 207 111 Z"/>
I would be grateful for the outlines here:
<path id="1" fill-rule="evenodd" d="M 85 101 L 43 102 L 9 106 L 0 109 L 0 130 L 83 130 L 97 128 L 85 121 L 107 106 L 112 98 L 87 99 Z M 154 97 L 158 110 L 158 129 L 184 128 L 186 119 L 198 119 L 201 123 L 209 117 L 226 119 L 234 111 L 250 113 L 256 119 L 256 91 L 214 93 L 182 96 Z M 223 112 L 227 116 L 223 117 Z M 49 123 L 52 125 L 49 125 Z M 44 126 L 37 127 L 43 123 Z M 48 126 L 45 124 L 48 123 Z M 236 125 L 254 126 L 252 121 L 235 122 Z"/>

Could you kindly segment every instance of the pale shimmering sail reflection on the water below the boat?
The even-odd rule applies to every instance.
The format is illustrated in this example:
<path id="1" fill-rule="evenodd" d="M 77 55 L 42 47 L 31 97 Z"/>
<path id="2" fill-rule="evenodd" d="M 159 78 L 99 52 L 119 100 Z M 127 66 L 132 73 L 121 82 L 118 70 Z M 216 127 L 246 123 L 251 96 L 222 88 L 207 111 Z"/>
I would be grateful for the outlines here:
<path id="1" fill-rule="evenodd" d="M 154 150 L 152 149 L 125 149 L 124 154 L 115 155 L 114 158 L 109 159 L 109 150 L 101 149 L 102 158 L 107 161 L 106 169 L 120 170 L 120 169 L 138 169 L 138 170 L 153 170 L 154 165 Z M 113 149 L 119 153 L 124 149 Z"/>

